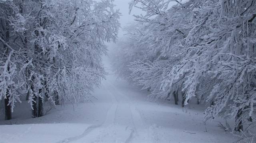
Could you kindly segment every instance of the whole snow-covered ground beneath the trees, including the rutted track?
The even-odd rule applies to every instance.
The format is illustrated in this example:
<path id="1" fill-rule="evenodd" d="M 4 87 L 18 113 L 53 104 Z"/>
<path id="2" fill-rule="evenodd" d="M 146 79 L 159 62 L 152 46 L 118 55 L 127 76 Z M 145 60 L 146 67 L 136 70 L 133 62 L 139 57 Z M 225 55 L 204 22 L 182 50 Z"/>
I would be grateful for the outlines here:
<path id="1" fill-rule="evenodd" d="M 23 102 L 14 119 L 0 120 L 0 143 L 232 143 L 230 133 L 204 123 L 202 107 L 180 108 L 168 100 L 146 100 L 147 91 L 107 76 L 92 102 L 74 109 L 57 106 L 47 115 L 30 118 Z M 22 107 L 22 108 L 21 108 Z M 21 112 L 21 109 L 27 111 Z M 47 107 L 45 107 L 47 110 Z M 24 114 L 25 113 L 25 114 Z M 11 124 L 11 125 L 10 125 Z"/>

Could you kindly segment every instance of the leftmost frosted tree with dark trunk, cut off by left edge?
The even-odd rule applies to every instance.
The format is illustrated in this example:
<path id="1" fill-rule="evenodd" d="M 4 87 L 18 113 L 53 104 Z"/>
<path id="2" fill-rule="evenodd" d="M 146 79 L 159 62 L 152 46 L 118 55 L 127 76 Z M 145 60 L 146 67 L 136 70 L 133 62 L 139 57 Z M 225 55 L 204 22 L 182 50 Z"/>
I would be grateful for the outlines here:
<path id="1" fill-rule="evenodd" d="M 18 90 L 24 86 L 18 82 L 22 79 L 17 69 L 25 63 L 19 58 L 22 51 L 15 45 L 14 36 L 23 27 L 23 19 L 16 5 L 0 0 L 0 99 L 4 98 L 5 119 L 12 118 L 15 102 L 20 102 Z"/>

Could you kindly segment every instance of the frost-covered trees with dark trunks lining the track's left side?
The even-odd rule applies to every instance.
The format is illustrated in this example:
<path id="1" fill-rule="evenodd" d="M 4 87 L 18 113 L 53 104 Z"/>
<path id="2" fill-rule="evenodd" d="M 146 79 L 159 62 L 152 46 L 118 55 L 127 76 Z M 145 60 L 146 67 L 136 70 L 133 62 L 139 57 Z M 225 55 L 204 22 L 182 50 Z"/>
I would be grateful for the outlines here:
<path id="1" fill-rule="evenodd" d="M 0 0 L 5 119 L 23 98 L 32 118 L 44 115 L 46 102 L 90 100 L 104 78 L 104 42 L 116 40 L 119 16 L 112 0 Z"/>

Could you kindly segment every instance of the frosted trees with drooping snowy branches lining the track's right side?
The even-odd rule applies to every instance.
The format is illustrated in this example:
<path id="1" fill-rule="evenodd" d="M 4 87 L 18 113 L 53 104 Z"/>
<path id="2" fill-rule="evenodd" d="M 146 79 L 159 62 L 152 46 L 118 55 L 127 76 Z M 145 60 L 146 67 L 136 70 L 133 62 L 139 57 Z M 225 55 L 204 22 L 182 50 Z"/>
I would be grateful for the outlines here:
<path id="1" fill-rule="evenodd" d="M 206 105 L 206 120 L 234 118 L 239 141 L 254 142 L 256 0 L 132 0 L 133 7 L 145 14 L 119 42 L 116 73 L 149 98 Z"/>

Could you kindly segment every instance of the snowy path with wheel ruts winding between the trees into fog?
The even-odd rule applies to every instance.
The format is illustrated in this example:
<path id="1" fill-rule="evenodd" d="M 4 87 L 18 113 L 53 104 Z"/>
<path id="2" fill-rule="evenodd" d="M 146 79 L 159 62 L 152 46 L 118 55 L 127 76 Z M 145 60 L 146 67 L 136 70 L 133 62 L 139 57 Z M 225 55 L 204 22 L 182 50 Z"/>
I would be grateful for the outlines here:
<path id="1" fill-rule="evenodd" d="M 130 98 L 108 81 L 103 83 L 102 90 L 106 91 L 112 102 L 105 121 L 86 128 L 82 135 L 59 143 L 150 143 L 148 128 Z"/>

